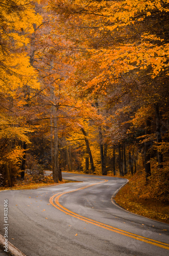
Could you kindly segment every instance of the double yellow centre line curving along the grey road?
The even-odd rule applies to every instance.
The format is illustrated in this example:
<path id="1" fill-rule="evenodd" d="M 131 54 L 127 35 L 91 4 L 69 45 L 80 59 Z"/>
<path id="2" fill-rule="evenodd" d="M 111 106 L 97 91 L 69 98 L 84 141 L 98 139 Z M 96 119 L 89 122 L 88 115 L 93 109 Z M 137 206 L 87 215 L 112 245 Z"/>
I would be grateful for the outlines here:
<path id="1" fill-rule="evenodd" d="M 94 179 L 99 179 L 99 178 L 94 178 Z M 103 180 L 103 179 L 101 179 L 101 180 Z M 103 180 L 102 182 L 106 182 L 106 181 L 108 181 L 108 180 Z M 95 221 L 95 220 L 92 220 L 92 219 L 89 219 L 89 218 L 86 218 L 86 217 L 82 217 L 82 216 L 76 214 L 75 212 L 67 209 L 66 207 L 64 207 L 63 205 L 61 205 L 59 203 L 60 197 L 65 195 L 65 194 L 72 193 L 74 191 L 81 190 L 81 189 L 84 189 L 84 188 L 87 188 L 87 187 L 90 187 L 90 186 L 94 186 L 94 185 L 100 184 L 102 182 L 97 182 L 97 183 L 94 183 L 94 184 L 91 184 L 91 185 L 83 186 L 83 187 L 80 187 L 80 188 L 77 188 L 77 189 L 74 189 L 72 191 L 68 191 L 68 192 L 65 192 L 65 193 L 55 194 L 55 195 L 53 195 L 49 199 L 49 202 L 55 208 L 65 212 L 65 214 L 70 215 L 70 216 L 72 216 L 72 217 L 74 217 L 76 219 L 79 219 L 81 221 L 85 221 L 85 222 L 91 223 L 93 225 L 102 227 L 104 229 L 107 229 L 107 230 L 110 230 L 110 231 L 113 231 L 113 232 L 116 232 L 116 233 L 119 233 L 119 234 L 123 234 L 123 236 L 127 236 L 127 237 L 130 237 L 130 238 L 133 238 L 133 239 L 136 239 L 136 240 L 139 240 L 139 241 L 142 241 L 142 242 L 145 242 L 145 243 L 148 243 L 148 244 L 152 244 L 152 245 L 155 245 L 155 246 L 158 246 L 158 247 L 161 247 L 161 248 L 169 250 L 169 244 L 162 243 L 160 241 L 156 241 L 156 240 L 149 239 L 149 238 L 146 238 L 146 237 L 142 237 L 142 236 L 139 236 L 137 234 L 130 233 L 128 231 L 125 231 L 125 230 L 122 230 L 122 229 L 119 229 L 119 228 L 116 228 L 116 227 L 112 227 L 112 226 L 106 225 L 104 223 L 101 223 L 101 222 L 98 222 L 98 221 Z"/>

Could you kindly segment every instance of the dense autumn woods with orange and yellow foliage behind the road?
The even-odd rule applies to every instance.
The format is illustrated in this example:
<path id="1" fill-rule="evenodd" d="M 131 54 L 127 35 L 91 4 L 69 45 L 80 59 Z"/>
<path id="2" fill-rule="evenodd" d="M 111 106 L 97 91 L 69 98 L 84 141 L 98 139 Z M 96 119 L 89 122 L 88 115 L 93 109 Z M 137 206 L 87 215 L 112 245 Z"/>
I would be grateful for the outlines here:
<path id="1" fill-rule="evenodd" d="M 166 201 L 169 1 L 0 3 L 0 182 L 140 175 Z M 39 178 L 37 178 L 39 177 Z"/>

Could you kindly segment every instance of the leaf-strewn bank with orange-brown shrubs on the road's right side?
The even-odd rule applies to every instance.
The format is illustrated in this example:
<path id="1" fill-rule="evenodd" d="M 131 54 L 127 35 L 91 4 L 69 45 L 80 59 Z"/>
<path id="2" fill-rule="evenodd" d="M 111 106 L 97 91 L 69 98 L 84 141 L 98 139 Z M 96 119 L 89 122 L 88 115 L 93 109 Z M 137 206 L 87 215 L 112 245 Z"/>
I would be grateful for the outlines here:
<path id="1" fill-rule="evenodd" d="M 156 182 L 153 179 L 149 184 L 145 183 L 144 172 L 136 174 L 134 177 L 126 177 L 129 182 L 121 188 L 115 197 L 115 201 L 124 209 L 153 220 L 165 222 L 169 224 L 169 205 L 168 200 L 161 200 L 160 195 L 168 191 L 164 191 L 166 187 L 165 181 L 156 188 Z M 156 189 L 159 191 L 157 192 Z M 161 191 L 160 191 L 161 190 Z"/>

